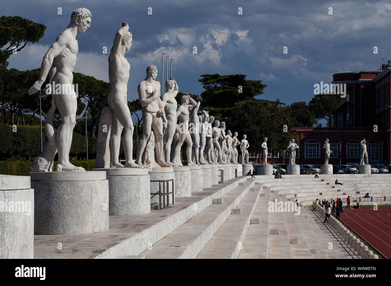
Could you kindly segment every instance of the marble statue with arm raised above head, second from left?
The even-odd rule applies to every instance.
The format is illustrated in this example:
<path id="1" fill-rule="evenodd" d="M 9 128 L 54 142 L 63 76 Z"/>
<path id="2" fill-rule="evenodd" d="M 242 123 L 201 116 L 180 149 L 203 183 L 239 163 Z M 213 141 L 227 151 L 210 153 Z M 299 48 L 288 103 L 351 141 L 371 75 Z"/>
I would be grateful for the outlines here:
<path id="1" fill-rule="evenodd" d="M 129 32 L 129 25 L 123 22 L 122 28 L 115 35 L 109 55 L 110 91 L 107 102 L 112 109 L 110 168 L 124 167 L 118 160 L 122 129 L 124 129 L 122 144 L 124 145 L 125 167 L 140 168 L 133 162 L 133 121 L 127 106 L 127 81 L 130 65 L 124 55 L 131 46 L 132 34 Z"/>

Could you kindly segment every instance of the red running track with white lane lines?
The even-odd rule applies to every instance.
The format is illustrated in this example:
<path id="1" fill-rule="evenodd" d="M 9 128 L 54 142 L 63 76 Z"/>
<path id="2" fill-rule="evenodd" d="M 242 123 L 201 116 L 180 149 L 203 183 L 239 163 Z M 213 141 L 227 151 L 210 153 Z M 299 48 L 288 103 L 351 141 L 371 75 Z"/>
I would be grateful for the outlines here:
<path id="1" fill-rule="evenodd" d="M 378 210 L 344 208 L 340 219 L 378 253 L 391 258 L 391 206 Z"/>

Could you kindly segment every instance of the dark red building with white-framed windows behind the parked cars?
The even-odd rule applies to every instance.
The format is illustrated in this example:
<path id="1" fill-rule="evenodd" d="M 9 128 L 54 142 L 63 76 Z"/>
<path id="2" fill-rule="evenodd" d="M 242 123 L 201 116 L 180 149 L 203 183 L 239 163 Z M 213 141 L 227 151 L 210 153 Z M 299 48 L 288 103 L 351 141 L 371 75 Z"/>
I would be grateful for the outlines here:
<path id="1" fill-rule="evenodd" d="M 382 65 L 378 71 L 333 74 L 332 83 L 346 83 L 346 103 L 335 111 L 335 128 L 293 128 L 300 141 L 296 163 L 323 164 L 326 138 L 332 150 L 330 164 L 360 163 L 360 141 L 365 138 L 369 163 L 391 164 L 391 65 Z M 288 153 L 273 156 L 275 164 L 288 160 Z M 250 161 L 262 163 L 262 154 L 258 158 L 253 154 Z M 267 162 L 271 163 L 270 153 Z"/>

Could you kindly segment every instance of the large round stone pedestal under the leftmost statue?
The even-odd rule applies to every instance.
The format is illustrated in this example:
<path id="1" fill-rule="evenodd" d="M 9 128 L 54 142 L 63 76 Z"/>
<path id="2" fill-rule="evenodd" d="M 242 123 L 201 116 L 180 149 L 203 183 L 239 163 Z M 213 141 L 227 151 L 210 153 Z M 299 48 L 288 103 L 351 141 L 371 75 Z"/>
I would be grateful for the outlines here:
<path id="1" fill-rule="evenodd" d="M 35 234 L 91 234 L 109 230 L 106 172 L 30 172 Z"/>

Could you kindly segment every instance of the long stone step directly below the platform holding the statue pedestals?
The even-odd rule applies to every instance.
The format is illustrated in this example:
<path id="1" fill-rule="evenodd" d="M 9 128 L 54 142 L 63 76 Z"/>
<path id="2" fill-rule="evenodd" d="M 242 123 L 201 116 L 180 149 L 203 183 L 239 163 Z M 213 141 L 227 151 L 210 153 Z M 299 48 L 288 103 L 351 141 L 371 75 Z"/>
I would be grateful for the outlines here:
<path id="1" fill-rule="evenodd" d="M 163 239 L 145 250 L 146 259 L 196 258 L 220 226 L 231 215 L 231 209 L 239 205 L 254 181 L 246 181 L 222 197 L 222 204 L 211 205 Z"/>

